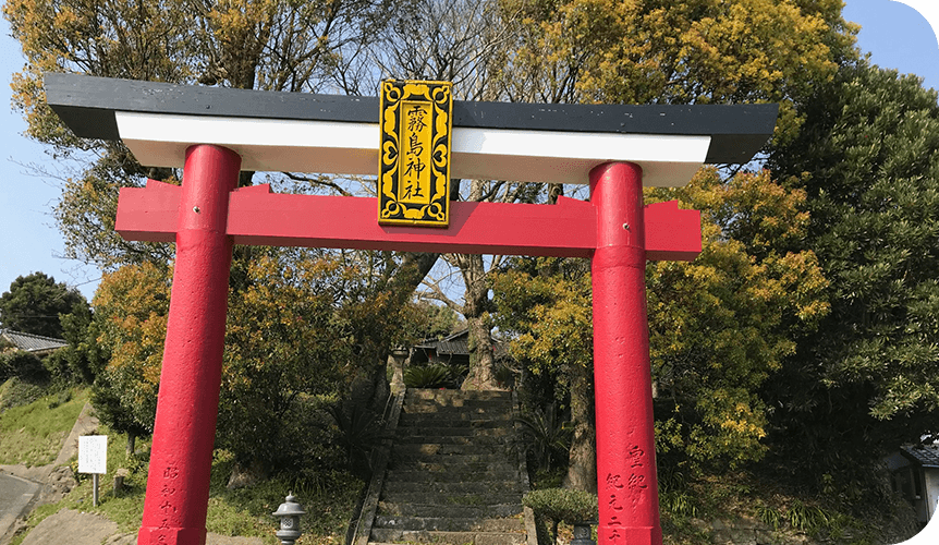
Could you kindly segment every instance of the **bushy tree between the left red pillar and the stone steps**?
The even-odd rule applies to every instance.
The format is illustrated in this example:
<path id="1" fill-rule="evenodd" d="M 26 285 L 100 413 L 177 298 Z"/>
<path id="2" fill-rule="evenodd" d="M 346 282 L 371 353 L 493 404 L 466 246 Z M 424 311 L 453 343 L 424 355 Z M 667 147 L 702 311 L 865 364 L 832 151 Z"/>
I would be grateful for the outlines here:
<path id="1" fill-rule="evenodd" d="M 217 444 L 243 468 L 303 460 L 317 441 L 303 425 L 306 401 L 355 398 L 358 382 L 368 384 L 363 397 L 374 395 L 377 362 L 411 340 L 402 331 L 415 315 L 393 291 L 376 290 L 375 262 L 359 259 L 368 255 L 269 249 L 249 264 L 247 288 L 232 291 Z M 352 404 L 367 411 L 369 401 Z"/>

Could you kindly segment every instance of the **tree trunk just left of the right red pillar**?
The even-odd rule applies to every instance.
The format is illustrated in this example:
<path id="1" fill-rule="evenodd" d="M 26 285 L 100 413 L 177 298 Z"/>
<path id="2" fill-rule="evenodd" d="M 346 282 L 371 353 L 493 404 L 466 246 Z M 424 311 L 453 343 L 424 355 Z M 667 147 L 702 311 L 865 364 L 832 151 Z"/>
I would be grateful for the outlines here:
<path id="1" fill-rule="evenodd" d="M 568 474 L 564 487 L 597 492 L 597 440 L 594 428 L 594 399 L 590 368 L 574 365 L 571 370 L 571 423 L 574 440 L 568 451 Z"/>

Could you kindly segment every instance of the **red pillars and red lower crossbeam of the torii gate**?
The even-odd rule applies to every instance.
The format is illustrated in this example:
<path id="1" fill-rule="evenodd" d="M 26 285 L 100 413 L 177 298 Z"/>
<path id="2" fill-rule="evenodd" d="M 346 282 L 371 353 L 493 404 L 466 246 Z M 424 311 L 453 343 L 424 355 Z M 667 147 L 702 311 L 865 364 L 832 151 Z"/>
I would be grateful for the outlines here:
<path id="1" fill-rule="evenodd" d="M 124 238 L 176 241 L 141 545 L 205 543 L 233 242 L 592 257 L 599 537 L 661 544 L 645 262 L 699 253 L 699 213 L 643 206 L 642 168 L 614 162 L 590 172 L 592 203 L 452 203 L 449 229 L 381 227 L 374 198 L 234 190 L 240 162 L 192 146 L 182 187 L 121 191 Z"/>

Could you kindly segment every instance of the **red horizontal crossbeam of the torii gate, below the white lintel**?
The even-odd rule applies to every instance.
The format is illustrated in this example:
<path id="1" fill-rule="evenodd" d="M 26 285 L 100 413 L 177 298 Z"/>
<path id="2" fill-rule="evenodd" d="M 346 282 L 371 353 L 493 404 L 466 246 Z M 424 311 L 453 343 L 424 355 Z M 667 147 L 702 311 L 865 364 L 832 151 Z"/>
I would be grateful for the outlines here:
<path id="1" fill-rule="evenodd" d="M 450 203 L 447 229 L 379 226 L 375 198 L 269 193 L 244 187 L 229 198 L 235 244 L 404 252 L 589 257 L 597 220 L 590 203 Z M 175 240 L 179 187 L 151 182 L 121 190 L 115 229 L 127 240 Z M 690 261 L 700 253 L 700 215 L 678 203 L 646 206 L 646 256 Z"/>

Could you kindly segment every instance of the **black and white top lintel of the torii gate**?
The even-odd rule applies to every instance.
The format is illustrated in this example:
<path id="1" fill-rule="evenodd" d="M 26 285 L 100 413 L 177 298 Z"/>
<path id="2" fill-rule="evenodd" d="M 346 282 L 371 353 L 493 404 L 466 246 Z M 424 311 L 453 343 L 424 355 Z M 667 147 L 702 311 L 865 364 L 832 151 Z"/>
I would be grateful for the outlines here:
<path id="1" fill-rule="evenodd" d="M 149 167 L 182 167 L 193 144 L 230 147 L 242 168 L 375 174 L 377 97 L 275 93 L 48 74 L 46 98 L 80 137 L 121 140 Z M 778 105 L 453 102 L 451 175 L 587 183 L 607 161 L 644 183 L 684 185 L 704 164 L 745 164 Z"/>

